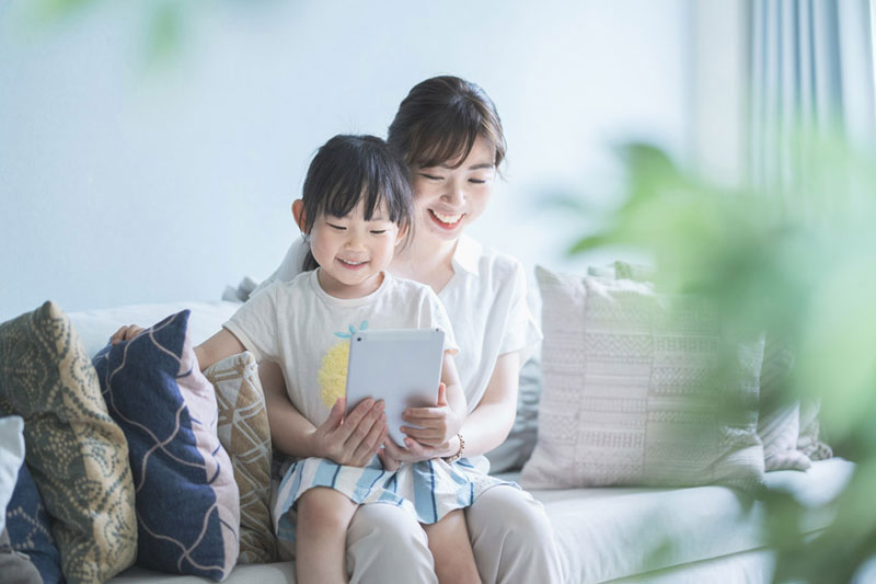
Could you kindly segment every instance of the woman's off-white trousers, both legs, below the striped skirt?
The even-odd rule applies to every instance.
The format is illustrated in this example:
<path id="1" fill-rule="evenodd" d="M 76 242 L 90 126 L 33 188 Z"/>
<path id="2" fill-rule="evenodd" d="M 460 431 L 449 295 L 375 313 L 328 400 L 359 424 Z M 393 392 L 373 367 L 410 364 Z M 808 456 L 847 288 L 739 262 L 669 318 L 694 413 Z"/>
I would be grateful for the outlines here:
<path id="1" fill-rule="evenodd" d="M 541 503 L 512 486 L 494 486 L 465 509 L 481 579 L 487 583 L 563 582 L 553 528 Z M 426 533 L 393 505 L 362 505 L 347 530 L 351 583 L 437 583 Z"/>

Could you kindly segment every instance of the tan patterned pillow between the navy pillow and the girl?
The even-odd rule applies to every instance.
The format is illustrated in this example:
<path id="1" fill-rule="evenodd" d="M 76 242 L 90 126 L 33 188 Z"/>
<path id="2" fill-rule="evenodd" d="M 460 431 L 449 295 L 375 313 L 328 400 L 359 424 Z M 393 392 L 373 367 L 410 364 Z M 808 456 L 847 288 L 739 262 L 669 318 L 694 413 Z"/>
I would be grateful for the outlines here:
<path id="1" fill-rule="evenodd" d="M 270 520 L 270 428 L 258 365 L 250 353 L 233 355 L 205 369 L 219 404 L 219 442 L 234 467 L 240 490 L 238 563 L 277 560 Z"/>

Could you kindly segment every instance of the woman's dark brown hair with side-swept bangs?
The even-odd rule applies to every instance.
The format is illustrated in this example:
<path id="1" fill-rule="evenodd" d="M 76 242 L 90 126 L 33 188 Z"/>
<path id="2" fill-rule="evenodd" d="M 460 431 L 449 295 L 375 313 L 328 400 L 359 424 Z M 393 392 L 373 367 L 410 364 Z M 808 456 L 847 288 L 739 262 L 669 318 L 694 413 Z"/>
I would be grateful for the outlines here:
<path id="1" fill-rule="evenodd" d="M 459 77 L 433 77 L 414 85 L 399 105 L 387 141 L 410 168 L 437 167 L 469 156 L 477 136 L 505 159 L 505 134 L 496 106 L 480 85 Z"/>

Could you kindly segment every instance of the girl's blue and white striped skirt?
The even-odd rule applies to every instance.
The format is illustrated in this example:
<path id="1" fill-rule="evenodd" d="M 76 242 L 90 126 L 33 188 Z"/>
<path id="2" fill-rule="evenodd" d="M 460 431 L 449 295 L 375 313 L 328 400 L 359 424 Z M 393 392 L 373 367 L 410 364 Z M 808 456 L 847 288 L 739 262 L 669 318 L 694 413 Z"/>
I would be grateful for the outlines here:
<path id="1" fill-rule="evenodd" d="M 403 463 L 394 471 L 383 470 L 377 456 L 366 467 L 347 467 L 324 458 L 296 460 L 284 473 L 277 492 L 272 509 L 274 529 L 277 537 L 295 541 L 296 502 L 314 486 L 339 491 L 360 505 L 383 503 L 403 507 L 424 524 L 436 523 L 453 509 L 470 506 L 492 486 L 517 486 L 488 476 L 488 465 L 477 467 L 468 458 L 456 462 L 435 458 Z"/>

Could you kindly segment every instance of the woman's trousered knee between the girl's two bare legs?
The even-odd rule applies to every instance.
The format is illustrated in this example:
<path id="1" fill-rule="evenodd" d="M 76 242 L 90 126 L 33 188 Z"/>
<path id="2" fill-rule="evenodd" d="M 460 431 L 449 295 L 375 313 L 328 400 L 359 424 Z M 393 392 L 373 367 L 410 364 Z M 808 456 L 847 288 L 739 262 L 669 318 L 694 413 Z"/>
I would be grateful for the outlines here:
<path id="1" fill-rule="evenodd" d="M 437 584 L 426 533 L 416 517 L 395 505 L 360 505 L 347 531 L 351 584 Z"/>

